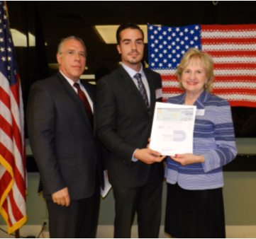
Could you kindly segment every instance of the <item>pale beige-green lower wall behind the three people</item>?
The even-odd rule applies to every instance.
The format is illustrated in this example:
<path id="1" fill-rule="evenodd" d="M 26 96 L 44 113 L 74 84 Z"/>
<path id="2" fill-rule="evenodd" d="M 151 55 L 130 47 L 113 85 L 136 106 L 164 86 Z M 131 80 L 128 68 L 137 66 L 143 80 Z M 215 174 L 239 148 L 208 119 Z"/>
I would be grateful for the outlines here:
<path id="1" fill-rule="evenodd" d="M 256 153 L 256 139 L 238 139 L 239 153 Z M 255 162 L 256 163 L 256 162 Z M 28 225 L 41 225 L 48 214 L 42 196 L 38 196 L 38 173 L 28 173 Z M 256 172 L 224 172 L 226 225 L 256 225 Z M 165 221 L 166 185 L 162 201 L 162 224 Z M 101 200 L 99 224 L 111 225 L 114 218 L 113 192 Z M 0 224 L 5 224 L 0 218 Z"/>

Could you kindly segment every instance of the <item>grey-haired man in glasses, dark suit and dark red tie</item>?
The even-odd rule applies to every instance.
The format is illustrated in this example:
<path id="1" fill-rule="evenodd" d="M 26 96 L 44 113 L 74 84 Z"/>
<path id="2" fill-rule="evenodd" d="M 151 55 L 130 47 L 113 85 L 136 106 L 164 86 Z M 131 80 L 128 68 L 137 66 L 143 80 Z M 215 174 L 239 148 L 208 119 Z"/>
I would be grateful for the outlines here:
<path id="1" fill-rule="evenodd" d="M 86 59 L 81 39 L 63 39 L 57 51 L 60 71 L 35 82 L 28 99 L 28 135 L 51 238 L 96 237 L 103 171 L 94 134 L 94 86 L 79 80 Z"/>

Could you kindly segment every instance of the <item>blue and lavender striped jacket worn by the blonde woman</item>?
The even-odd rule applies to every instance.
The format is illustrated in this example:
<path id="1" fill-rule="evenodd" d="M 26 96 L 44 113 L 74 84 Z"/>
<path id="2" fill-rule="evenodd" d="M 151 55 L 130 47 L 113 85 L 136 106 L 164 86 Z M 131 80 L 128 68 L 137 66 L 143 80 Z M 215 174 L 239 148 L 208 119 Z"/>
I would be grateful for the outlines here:
<path id="1" fill-rule="evenodd" d="M 184 105 L 185 94 L 166 102 Z M 223 187 L 222 166 L 237 154 L 230 105 L 227 100 L 206 91 L 194 105 L 201 113 L 196 113 L 193 153 L 204 156 L 205 162 L 182 166 L 168 157 L 165 177 L 168 183 L 178 183 L 186 190 Z"/>

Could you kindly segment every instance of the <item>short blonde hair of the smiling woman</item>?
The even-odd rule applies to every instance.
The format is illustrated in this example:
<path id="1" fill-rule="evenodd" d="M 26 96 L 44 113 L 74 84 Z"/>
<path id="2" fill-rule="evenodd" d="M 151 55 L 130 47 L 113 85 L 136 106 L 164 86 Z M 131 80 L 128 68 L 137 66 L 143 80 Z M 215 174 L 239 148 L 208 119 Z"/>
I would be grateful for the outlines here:
<path id="1" fill-rule="evenodd" d="M 177 68 L 176 74 L 179 80 L 179 88 L 183 91 L 184 87 L 182 86 L 182 73 L 184 69 L 189 64 L 191 59 L 199 59 L 203 64 L 204 70 L 206 71 L 207 82 L 204 86 L 206 92 L 211 93 L 213 91 L 213 81 L 214 81 L 214 74 L 213 74 L 213 59 L 207 53 L 201 52 L 199 49 L 190 48 L 182 57 L 182 60 Z"/>

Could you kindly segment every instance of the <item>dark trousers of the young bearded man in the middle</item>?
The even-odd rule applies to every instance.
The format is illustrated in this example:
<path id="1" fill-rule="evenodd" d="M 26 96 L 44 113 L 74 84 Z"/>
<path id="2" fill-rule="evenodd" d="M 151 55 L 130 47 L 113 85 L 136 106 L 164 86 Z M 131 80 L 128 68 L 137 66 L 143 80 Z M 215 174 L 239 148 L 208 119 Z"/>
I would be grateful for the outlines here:
<path id="1" fill-rule="evenodd" d="M 162 210 L 162 182 L 150 180 L 143 187 L 113 187 L 116 216 L 114 238 L 130 238 L 135 212 L 139 238 L 158 238 Z"/>

